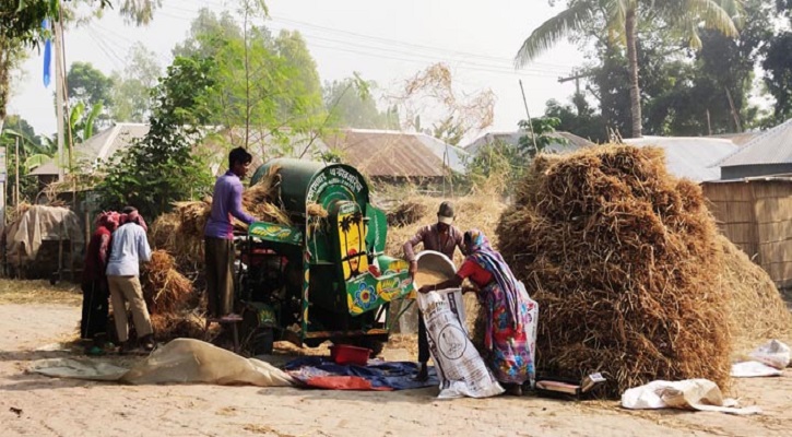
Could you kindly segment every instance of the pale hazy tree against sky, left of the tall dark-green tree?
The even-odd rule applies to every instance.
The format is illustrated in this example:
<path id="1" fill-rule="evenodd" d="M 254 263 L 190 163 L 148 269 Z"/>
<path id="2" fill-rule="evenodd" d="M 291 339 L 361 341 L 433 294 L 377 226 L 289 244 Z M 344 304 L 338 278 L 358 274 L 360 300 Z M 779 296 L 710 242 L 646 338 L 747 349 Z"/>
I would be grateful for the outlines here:
<path id="1" fill-rule="evenodd" d="M 113 73 L 111 115 L 116 121 L 143 122 L 147 120 L 151 91 L 156 86 L 162 68 L 156 55 L 141 43 L 134 44 L 127 56 L 123 71 Z"/>

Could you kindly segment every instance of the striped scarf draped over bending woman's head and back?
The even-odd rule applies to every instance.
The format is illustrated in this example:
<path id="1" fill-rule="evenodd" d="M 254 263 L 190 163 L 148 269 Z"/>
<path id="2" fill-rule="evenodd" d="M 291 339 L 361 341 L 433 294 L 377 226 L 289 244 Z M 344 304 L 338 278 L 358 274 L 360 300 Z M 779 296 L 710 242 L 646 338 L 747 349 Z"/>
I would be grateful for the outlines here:
<path id="1" fill-rule="evenodd" d="M 465 233 L 465 241 L 470 241 L 468 246 L 468 259 L 475 261 L 478 265 L 493 274 L 493 277 L 500 286 L 506 296 L 506 310 L 509 314 L 515 328 L 520 324 L 520 288 L 517 279 L 511 273 L 511 269 L 504 261 L 504 257 L 489 246 L 489 240 L 483 232 L 471 229 Z"/>

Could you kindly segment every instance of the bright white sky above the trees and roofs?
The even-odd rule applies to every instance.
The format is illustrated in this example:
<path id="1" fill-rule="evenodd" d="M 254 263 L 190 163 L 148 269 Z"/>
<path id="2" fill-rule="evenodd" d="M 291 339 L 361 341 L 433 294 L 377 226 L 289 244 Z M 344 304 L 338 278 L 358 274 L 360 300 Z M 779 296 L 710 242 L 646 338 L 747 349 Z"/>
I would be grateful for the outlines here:
<path id="1" fill-rule="evenodd" d="M 140 40 L 165 67 L 199 9 L 236 8 L 227 0 L 163 3 L 145 27 L 125 25 L 117 12 L 108 11 L 87 27 L 67 31 L 67 62 L 87 61 L 109 74 L 122 69 L 129 47 Z M 519 79 L 531 116 L 541 116 L 547 99 L 566 102 L 572 94 L 574 82 L 557 80 L 583 60 L 576 47 L 563 43 L 515 71 L 511 60 L 523 39 L 559 11 L 546 0 L 269 0 L 267 4 L 272 17 L 268 27 L 300 31 L 322 81 L 357 71 L 382 88 L 394 88 L 429 64 L 447 62 L 461 92 L 492 88 L 495 93 L 495 123 L 488 131 L 515 130 L 517 121 L 525 118 Z M 20 114 L 37 133 L 49 134 L 56 130 L 54 84 L 44 87 L 42 69 L 43 57 L 32 54 L 23 64 L 9 114 Z"/>

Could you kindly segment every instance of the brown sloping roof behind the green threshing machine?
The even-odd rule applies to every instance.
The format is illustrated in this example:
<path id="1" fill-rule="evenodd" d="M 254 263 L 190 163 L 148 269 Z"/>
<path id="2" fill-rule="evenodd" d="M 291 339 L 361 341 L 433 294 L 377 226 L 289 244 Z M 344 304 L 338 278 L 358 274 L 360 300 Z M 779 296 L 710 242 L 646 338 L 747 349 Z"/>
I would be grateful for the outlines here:
<path id="1" fill-rule="evenodd" d="M 351 129 L 326 139 L 368 177 L 442 177 L 442 161 L 419 134 Z"/>

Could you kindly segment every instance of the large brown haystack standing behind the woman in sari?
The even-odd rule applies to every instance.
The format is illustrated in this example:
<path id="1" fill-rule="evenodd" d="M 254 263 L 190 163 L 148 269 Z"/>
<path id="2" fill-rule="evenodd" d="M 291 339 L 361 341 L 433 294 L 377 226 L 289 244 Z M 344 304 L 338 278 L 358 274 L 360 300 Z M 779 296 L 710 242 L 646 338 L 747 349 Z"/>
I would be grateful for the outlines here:
<path id="1" fill-rule="evenodd" d="M 540 304 L 540 373 L 602 371 L 610 397 L 654 379 L 729 386 L 722 248 L 700 188 L 661 150 L 540 157 L 497 232 Z"/>

